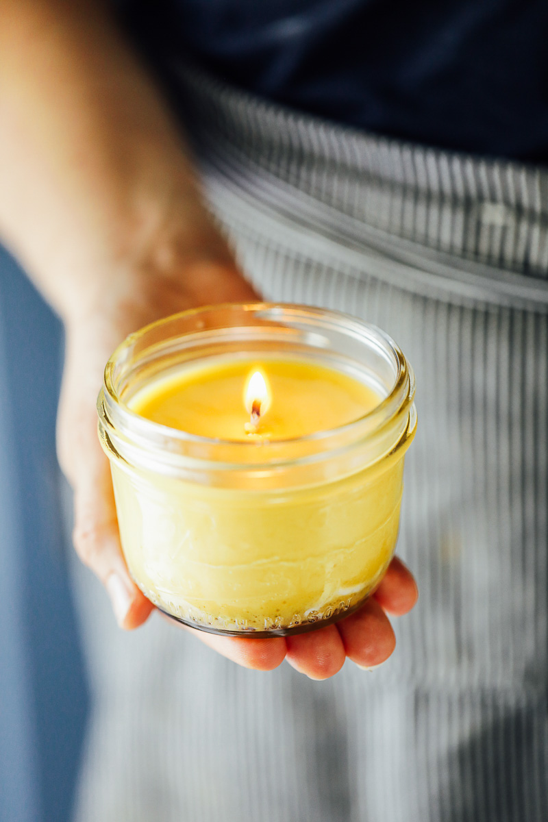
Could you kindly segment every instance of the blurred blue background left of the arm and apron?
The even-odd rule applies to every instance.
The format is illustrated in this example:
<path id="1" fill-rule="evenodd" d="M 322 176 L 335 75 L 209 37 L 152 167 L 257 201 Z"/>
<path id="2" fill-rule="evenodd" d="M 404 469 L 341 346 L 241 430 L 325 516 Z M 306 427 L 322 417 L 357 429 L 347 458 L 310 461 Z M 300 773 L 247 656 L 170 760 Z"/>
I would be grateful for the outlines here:
<path id="1" fill-rule="evenodd" d="M 0 249 L 0 819 L 71 818 L 90 693 L 55 417 L 62 326 Z"/>

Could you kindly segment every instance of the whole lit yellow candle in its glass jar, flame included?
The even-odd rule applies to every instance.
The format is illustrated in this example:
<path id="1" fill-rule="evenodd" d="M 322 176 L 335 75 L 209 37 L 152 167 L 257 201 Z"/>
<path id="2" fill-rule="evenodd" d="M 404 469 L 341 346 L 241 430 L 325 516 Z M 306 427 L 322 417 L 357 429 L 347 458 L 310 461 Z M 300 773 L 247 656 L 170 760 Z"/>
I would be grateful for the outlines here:
<path id="1" fill-rule="evenodd" d="M 200 312 L 180 315 L 111 359 L 99 432 L 122 548 L 146 596 L 187 624 L 309 630 L 359 606 L 393 556 L 412 375 L 376 330 L 368 357 L 336 350 L 327 326 L 348 318 L 242 311 L 205 309 L 205 331 Z M 288 339 L 295 312 L 323 335 Z"/>

